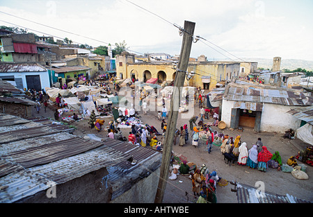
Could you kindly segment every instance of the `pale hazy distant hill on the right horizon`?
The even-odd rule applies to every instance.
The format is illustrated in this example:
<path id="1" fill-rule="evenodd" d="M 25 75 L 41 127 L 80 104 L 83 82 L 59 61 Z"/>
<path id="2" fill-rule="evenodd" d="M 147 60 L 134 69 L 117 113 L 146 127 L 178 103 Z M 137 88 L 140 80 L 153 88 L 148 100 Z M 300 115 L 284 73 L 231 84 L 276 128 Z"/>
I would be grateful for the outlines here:
<path id="1" fill-rule="evenodd" d="M 273 59 L 263 59 L 263 58 L 242 58 L 248 62 L 257 62 L 258 68 L 272 69 Z M 308 71 L 313 71 L 313 61 L 310 60 L 295 60 L 295 59 L 282 59 L 280 64 L 280 69 L 306 69 Z"/>

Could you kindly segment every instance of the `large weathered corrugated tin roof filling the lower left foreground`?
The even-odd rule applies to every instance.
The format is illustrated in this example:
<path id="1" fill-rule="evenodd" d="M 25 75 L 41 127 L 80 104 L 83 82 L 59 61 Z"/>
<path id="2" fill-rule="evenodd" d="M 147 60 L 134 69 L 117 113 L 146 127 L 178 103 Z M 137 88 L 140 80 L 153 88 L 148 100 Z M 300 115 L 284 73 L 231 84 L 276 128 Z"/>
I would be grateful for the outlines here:
<path id="1" fill-rule="evenodd" d="M 139 163 L 161 156 L 156 150 L 116 139 L 83 139 L 45 118 L 25 120 L 0 113 L 0 121 L 8 125 L 0 127 L 0 202 L 17 202 L 47 190 L 49 183 L 62 184 L 104 167 L 118 166 L 122 173 L 108 171 L 111 177 L 123 177 Z"/>

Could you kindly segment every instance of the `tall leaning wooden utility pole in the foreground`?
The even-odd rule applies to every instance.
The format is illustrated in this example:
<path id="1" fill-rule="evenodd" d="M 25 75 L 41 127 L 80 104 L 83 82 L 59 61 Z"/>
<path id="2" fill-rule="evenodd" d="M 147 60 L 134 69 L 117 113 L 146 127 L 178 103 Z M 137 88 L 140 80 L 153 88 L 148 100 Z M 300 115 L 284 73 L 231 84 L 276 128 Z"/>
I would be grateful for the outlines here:
<path id="1" fill-rule="evenodd" d="M 174 88 L 172 97 L 170 98 L 170 112 L 168 113 L 168 124 L 166 128 L 166 137 L 163 144 L 162 163 L 160 168 L 159 184 L 157 194 L 154 202 L 161 203 L 163 201 L 164 192 L 166 189 L 166 182 L 168 181 L 168 170 L 170 167 L 170 159 L 172 155 L 172 142 L 176 130 L 177 116 L 180 104 L 180 90 L 184 87 L 186 78 L 185 71 L 188 68 L 189 56 L 191 52 L 191 44 L 193 43 L 193 31 L 195 30 L 195 23 L 185 21 L 183 30 L 182 49 L 179 55 L 179 62 L 174 81 Z"/>

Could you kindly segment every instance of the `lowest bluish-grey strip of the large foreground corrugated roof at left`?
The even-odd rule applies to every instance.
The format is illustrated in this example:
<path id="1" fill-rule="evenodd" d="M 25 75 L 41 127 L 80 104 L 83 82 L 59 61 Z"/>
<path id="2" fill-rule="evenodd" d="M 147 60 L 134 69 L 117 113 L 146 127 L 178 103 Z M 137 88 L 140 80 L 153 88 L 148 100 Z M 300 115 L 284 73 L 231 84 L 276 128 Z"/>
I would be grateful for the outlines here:
<path id="1" fill-rule="evenodd" d="M 100 146 L 86 153 L 10 173 L 0 178 L 0 202 L 16 202 L 47 190 L 51 187 L 49 183 L 62 184 L 128 158 L 125 153 Z"/>

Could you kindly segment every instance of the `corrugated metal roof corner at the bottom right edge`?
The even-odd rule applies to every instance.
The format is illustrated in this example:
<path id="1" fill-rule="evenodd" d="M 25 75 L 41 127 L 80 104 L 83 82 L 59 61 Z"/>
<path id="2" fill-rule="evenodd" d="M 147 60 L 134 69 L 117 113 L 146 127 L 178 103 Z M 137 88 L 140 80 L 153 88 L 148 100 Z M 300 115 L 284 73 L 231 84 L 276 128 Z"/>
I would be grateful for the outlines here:
<path id="1" fill-rule="evenodd" d="M 237 200 L 239 203 L 311 203 L 294 196 L 280 196 L 262 191 L 243 184 L 237 184 Z"/>

